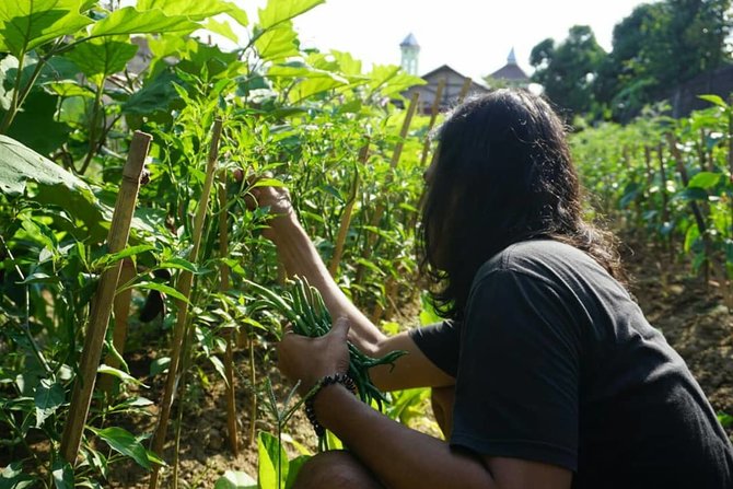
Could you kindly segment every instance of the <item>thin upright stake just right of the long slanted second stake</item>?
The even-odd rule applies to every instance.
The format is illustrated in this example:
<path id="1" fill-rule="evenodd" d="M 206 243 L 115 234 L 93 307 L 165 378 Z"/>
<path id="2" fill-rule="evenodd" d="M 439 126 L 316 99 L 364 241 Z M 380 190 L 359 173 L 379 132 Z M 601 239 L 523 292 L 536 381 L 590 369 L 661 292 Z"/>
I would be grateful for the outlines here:
<path id="1" fill-rule="evenodd" d="M 224 293 L 229 290 L 229 266 L 223 258 L 229 256 L 229 212 L 226 211 L 226 168 L 219 174 L 219 290 Z M 224 374 L 226 375 L 226 432 L 229 446 L 234 454 L 240 454 L 236 440 L 236 400 L 234 392 L 234 330 L 225 335 L 226 351 L 224 352 Z"/>

